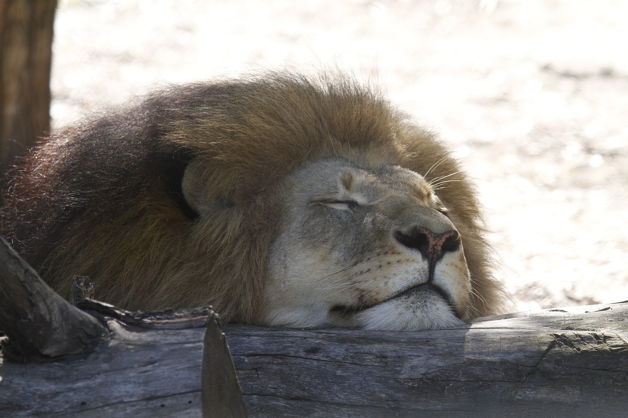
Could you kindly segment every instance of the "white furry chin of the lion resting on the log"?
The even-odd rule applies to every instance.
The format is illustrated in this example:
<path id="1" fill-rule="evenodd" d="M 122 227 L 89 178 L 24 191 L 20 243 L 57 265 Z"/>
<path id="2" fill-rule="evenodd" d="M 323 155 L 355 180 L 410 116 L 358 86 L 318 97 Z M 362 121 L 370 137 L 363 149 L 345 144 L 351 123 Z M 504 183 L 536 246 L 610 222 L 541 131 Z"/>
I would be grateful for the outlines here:
<path id="1" fill-rule="evenodd" d="M 447 301 L 432 292 L 396 297 L 357 313 L 332 313 L 328 319 L 331 326 L 388 331 L 434 330 L 462 324 Z"/>

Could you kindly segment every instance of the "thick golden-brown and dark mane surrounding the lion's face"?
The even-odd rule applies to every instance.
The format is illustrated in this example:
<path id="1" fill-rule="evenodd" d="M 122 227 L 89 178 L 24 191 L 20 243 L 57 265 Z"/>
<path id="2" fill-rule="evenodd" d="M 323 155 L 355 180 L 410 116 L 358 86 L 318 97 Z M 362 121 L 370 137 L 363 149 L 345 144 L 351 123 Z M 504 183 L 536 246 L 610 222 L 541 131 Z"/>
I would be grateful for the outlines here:
<path id="1" fill-rule="evenodd" d="M 255 323 L 281 179 L 325 157 L 455 180 L 438 195 L 462 235 L 475 316 L 501 306 L 477 195 L 457 162 L 431 132 L 343 77 L 173 87 L 66 129 L 15 171 L 2 230 L 63 296 L 81 274 L 97 282 L 99 299 L 122 308 L 213 304 L 226 321 Z M 192 160 L 186 181 L 214 201 L 203 217 L 181 193 Z"/>

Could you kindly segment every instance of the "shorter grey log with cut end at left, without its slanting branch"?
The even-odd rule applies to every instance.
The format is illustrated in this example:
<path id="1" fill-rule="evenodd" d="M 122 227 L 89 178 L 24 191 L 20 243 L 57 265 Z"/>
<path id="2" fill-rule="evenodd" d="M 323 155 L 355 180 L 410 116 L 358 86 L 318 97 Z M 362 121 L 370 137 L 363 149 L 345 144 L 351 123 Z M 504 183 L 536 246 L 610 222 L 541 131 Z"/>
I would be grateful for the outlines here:
<path id="1" fill-rule="evenodd" d="M 78 306 L 104 321 L 111 338 L 88 355 L 5 362 L 0 416 L 219 417 L 225 416 L 220 411 L 244 410 L 232 363 L 209 361 L 202 367 L 204 355 L 229 358 L 226 345 L 215 338 L 221 333 L 210 308 L 131 313 L 95 301 Z M 203 395 L 202 386 L 219 387 L 218 394 Z M 232 391 L 228 397 L 225 388 Z M 202 397 L 211 400 L 205 413 Z"/>

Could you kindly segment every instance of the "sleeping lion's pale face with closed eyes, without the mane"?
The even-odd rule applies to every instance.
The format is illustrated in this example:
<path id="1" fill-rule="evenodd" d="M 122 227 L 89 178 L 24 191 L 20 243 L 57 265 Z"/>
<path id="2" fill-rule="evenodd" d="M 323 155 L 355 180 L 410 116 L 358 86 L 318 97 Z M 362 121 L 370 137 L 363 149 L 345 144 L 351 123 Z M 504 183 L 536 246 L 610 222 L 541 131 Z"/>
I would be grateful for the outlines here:
<path id="1" fill-rule="evenodd" d="M 265 323 L 421 330 L 467 316 L 462 242 L 422 176 L 326 159 L 286 183 Z"/>

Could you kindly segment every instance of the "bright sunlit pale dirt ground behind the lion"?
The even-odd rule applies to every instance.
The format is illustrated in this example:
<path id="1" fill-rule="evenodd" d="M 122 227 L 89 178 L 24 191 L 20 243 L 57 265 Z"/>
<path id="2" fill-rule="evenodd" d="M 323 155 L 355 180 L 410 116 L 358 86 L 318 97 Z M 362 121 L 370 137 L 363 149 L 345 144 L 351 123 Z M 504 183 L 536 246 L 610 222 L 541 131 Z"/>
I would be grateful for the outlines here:
<path id="1" fill-rule="evenodd" d="M 338 67 L 477 180 L 519 308 L 628 299 L 628 2 L 68 0 L 56 126 L 155 85 Z"/>

